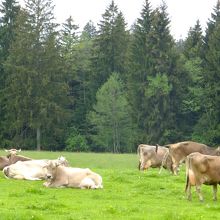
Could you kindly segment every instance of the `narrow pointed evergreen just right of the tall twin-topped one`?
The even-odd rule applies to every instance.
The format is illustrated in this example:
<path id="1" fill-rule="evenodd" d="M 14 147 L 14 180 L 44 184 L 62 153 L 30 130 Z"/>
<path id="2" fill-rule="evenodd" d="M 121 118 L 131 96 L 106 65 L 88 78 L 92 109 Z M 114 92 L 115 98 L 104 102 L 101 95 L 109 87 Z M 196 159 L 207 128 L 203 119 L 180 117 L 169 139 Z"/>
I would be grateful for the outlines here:
<path id="1" fill-rule="evenodd" d="M 203 68 L 202 68 L 202 45 L 203 36 L 199 21 L 190 28 L 184 42 L 183 59 L 184 68 L 188 75 L 187 90 L 182 103 L 182 119 L 187 139 L 192 139 L 195 124 L 201 116 L 203 100 Z M 196 140 L 196 139 L 195 139 Z"/>

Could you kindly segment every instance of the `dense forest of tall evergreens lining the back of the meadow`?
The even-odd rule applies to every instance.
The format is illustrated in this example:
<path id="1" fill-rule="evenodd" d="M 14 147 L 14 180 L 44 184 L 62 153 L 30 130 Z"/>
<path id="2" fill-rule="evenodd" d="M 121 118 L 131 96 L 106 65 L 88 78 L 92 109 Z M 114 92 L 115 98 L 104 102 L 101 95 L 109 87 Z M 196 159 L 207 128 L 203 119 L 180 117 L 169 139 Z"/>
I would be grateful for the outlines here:
<path id="1" fill-rule="evenodd" d="M 0 146 L 135 152 L 220 143 L 220 1 L 174 40 L 164 2 L 128 27 L 114 1 L 82 31 L 52 0 L 0 5 Z"/>

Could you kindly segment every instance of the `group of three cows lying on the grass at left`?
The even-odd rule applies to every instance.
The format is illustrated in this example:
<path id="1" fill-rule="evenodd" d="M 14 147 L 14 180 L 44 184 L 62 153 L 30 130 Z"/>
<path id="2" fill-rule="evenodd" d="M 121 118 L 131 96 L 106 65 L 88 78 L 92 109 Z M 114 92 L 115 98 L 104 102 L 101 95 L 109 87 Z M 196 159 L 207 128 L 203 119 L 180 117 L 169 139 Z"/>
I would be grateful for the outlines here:
<path id="1" fill-rule="evenodd" d="M 69 167 L 64 157 L 55 160 L 34 160 L 18 155 L 16 149 L 6 150 L 0 157 L 0 169 L 6 178 L 46 180 L 45 187 L 103 188 L 102 177 L 86 168 Z"/>

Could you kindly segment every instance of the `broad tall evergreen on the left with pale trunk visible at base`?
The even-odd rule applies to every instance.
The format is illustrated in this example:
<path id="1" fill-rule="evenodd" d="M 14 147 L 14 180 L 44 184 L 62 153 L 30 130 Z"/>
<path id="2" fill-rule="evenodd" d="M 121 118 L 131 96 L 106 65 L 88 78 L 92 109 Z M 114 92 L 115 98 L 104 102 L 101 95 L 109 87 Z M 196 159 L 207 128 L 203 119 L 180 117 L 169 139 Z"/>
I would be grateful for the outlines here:
<path id="1" fill-rule="evenodd" d="M 26 1 L 5 63 L 6 108 L 14 145 L 56 149 L 63 137 L 68 86 L 62 74 L 55 27 L 50 0 Z"/>

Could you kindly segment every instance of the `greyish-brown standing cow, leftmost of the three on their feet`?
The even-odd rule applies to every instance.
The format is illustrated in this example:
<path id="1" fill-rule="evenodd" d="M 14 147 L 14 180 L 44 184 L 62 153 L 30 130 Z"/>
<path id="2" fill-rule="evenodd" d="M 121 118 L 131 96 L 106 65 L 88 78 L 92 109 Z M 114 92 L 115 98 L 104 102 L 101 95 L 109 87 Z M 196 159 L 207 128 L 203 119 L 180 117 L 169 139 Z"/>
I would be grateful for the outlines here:
<path id="1" fill-rule="evenodd" d="M 140 144 L 138 145 L 137 153 L 139 155 L 139 170 L 147 170 L 149 167 L 164 167 L 172 171 L 171 158 L 167 148 L 159 145 Z"/>

